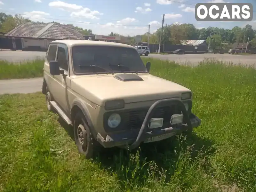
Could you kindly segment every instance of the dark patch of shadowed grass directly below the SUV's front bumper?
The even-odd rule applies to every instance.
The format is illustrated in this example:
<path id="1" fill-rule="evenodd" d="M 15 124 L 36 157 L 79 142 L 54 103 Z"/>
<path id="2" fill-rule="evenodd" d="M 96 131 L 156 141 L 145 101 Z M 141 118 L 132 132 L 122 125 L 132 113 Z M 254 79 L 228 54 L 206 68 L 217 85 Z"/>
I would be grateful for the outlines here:
<path id="1" fill-rule="evenodd" d="M 193 161 L 198 161 L 199 156 L 200 159 L 204 159 L 203 166 L 207 169 L 207 157 L 215 152 L 212 145 L 212 141 L 199 138 L 195 133 L 188 136 L 181 134 L 166 140 L 141 144 L 138 149 L 130 152 L 119 148 L 107 148 L 94 159 L 94 162 L 109 170 L 110 174 L 116 172 L 120 180 L 132 180 L 137 172 L 142 186 L 145 175 L 149 174 L 148 169 L 154 169 L 152 172 L 159 177 L 166 170 L 164 182 L 170 181 L 179 164 L 184 166 L 184 161 L 193 164 Z"/>

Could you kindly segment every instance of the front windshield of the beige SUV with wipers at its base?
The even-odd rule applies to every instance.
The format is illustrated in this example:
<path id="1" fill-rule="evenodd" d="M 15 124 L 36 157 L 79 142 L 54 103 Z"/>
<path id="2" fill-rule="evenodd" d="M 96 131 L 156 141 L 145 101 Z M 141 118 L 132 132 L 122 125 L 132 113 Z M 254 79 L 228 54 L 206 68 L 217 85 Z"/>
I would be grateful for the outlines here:
<path id="1" fill-rule="evenodd" d="M 76 45 L 72 47 L 75 74 L 147 73 L 140 55 L 133 48 L 108 45 Z"/>

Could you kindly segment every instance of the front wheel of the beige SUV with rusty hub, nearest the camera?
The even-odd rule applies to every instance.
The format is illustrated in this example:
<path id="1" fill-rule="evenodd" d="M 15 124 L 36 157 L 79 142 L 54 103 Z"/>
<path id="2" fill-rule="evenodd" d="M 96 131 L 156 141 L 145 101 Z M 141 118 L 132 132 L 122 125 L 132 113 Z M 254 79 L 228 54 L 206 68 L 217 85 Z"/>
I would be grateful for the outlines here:
<path id="1" fill-rule="evenodd" d="M 73 123 L 74 137 L 78 152 L 86 159 L 91 159 L 99 153 L 100 143 L 93 138 L 86 122 L 84 114 L 79 111 Z"/>

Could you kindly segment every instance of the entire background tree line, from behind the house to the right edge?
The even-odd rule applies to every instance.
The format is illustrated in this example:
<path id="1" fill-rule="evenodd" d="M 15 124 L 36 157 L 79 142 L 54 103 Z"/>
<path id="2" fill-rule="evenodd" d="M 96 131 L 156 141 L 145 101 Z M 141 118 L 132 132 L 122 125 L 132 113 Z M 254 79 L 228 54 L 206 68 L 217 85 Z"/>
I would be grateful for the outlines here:
<path id="1" fill-rule="evenodd" d="M 31 22 L 31 20 L 24 18 L 22 15 L 8 15 L 4 12 L 0 13 L 0 32 L 7 33 L 14 29 L 17 25 L 20 25 L 24 22 Z M 39 21 L 38 21 L 39 22 Z M 55 21 L 52 21 L 55 22 Z M 49 22 L 49 23 L 52 23 Z M 42 22 L 43 23 L 43 22 Z M 58 22 L 56 22 L 58 23 Z M 67 24 L 72 25 L 72 24 Z M 73 26 L 73 25 L 72 25 Z M 83 35 L 92 35 L 91 29 L 83 29 L 77 26 L 74 26 L 78 31 Z M 210 41 L 211 36 L 211 48 L 225 48 L 227 44 L 234 43 L 247 43 L 249 37 L 249 45 L 252 48 L 256 48 L 256 30 L 252 28 L 252 25 L 246 25 L 244 28 L 235 26 L 232 29 L 224 28 L 202 28 L 198 29 L 195 25 L 190 23 L 184 24 L 171 24 L 165 25 L 163 27 L 162 41 L 161 43 L 170 43 L 170 44 L 180 44 L 180 40 L 206 40 L 207 43 Z M 150 33 L 149 43 L 158 44 L 161 34 L 161 28 L 157 29 L 156 32 Z M 117 33 L 111 32 L 110 36 L 122 36 Z M 148 32 L 143 35 L 137 36 L 128 36 L 131 41 L 131 44 L 135 43 L 135 38 L 141 37 L 142 42 L 148 41 Z"/>

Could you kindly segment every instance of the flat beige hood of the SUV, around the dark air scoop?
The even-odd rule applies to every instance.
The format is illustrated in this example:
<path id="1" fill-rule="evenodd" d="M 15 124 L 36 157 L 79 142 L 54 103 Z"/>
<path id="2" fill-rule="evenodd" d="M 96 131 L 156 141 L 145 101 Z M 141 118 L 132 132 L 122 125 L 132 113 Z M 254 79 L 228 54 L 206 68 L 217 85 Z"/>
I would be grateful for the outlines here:
<path id="1" fill-rule="evenodd" d="M 124 99 L 125 103 L 180 97 L 189 89 L 150 74 L 138 74 L 143 80 L 122 81 L 116 74 L 76 76 L 71 89 L 93 103 L 102 106 L 106 100 Z"/>

